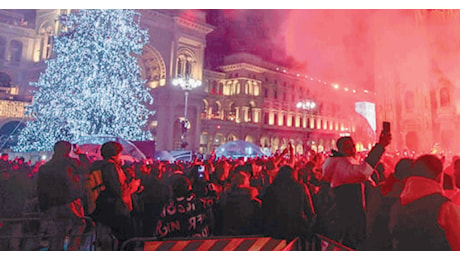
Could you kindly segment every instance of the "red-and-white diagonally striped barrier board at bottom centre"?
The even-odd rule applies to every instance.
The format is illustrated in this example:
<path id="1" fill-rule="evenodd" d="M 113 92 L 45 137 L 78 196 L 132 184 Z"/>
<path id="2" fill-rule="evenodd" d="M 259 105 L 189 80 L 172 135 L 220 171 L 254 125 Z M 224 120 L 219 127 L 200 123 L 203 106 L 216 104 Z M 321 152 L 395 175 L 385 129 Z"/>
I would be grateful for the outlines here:
<path id="1" fill-rule="evenodd" d="M 271 237 L 216 236 L 207 238 L 177 238 L 157 240 L 139 237 L 125 241 L 120 250 L 132 251 L 297 251 L 299 239 L 290 242 Z"/>

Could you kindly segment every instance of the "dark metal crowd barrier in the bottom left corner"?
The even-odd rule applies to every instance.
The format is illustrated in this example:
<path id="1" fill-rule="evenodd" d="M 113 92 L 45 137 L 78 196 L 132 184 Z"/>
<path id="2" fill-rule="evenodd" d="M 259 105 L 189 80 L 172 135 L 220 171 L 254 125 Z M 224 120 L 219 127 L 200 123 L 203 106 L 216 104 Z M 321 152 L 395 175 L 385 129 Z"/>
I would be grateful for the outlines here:
<path id="1" fill-rule="evenodd" d="M 96 224 L 89 217 L 82 219 L 85 222 L 84 232 L 80 235 L 67 235 L 66 241 L 79 237 L 83 242 L 79 245 L 80 250 L 95 251 Z M 40 217 L 0 218 L 0 251 L 47 250 L 47 241 L 54 234 L 46 234 L 44 225 Z M 62 250 L 69 250 L 66 244 Z"/>

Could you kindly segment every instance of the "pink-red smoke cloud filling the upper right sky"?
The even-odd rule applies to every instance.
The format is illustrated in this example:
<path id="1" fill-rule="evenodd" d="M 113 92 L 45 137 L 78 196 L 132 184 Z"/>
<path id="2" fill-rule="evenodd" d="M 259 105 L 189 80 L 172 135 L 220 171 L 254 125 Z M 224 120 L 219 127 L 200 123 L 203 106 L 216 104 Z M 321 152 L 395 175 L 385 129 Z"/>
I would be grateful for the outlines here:
<path id="1" fill-rule="evenodd" d="M 376 92 L 393 149 L 460 153 L 460 12 L 454 9 L 224 10 L 229 49 Z M 244 46 L 244 45 L 243 45 Z M 450 102 L 441 105 L 447 86 Z M 412 96 L 413 98 L 409 98 Z M 412 108 L 409 108 L 413 106 Z M 422 131 L 423 130 L 423 131 Z M 398 133 L 398 134 L 396 134 Z M 399 136 L 398 136 L 399 135 Z M 422 142 L 423 141 L 423 142 Z"/>

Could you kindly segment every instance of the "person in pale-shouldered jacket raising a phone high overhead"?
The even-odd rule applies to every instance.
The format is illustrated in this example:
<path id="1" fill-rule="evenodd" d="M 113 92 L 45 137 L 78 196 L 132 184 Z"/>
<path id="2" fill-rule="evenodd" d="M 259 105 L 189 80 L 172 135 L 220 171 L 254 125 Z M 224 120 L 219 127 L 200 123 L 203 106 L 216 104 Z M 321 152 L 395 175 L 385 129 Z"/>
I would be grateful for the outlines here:
<path id="1" fill-rule="evenodd" d="M 379 141 L 361 163 L 356 158 L 356 146 L 351 136 L 337 140 L 338 150 L 323 164 L 323 178 L 330 184 L 337 210 L 340 241 L 358 249 L 366 237 L 366 205 L 364 183 L 374 172 L 377 163 L 391 143 L 389 124 L 383 124 Z"/>

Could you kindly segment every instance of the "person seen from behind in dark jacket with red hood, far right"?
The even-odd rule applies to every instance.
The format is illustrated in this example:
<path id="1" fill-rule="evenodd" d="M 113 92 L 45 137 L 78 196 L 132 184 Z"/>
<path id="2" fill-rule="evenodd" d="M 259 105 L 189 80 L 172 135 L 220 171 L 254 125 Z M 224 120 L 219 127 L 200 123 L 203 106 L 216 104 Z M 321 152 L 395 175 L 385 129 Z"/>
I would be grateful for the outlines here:
<path id="1" fill-rule="evenodd" d="M 460 250 L 460 209 L 444 195 L 443 165 L 435 155 L 418 157 L 390 213 L 393 249 Z"/>

